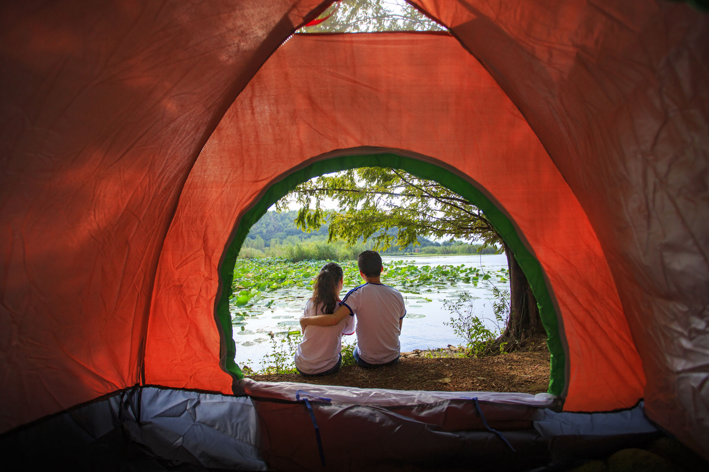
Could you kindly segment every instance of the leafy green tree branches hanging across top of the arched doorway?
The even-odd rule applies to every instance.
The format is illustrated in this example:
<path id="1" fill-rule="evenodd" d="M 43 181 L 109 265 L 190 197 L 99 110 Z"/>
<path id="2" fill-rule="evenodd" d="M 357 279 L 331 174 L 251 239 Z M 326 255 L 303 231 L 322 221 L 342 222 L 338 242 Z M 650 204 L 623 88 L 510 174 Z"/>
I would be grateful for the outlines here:
<path id="1" fill-rule="evenodd" d="M 321 207 L 325 198 L 337 210 Z M 420 236 L 481 241 L 479 248 L 502 247 L 502 239 L 484 214 L 463 197 L 433 180 L 393 168 L 362 167 L 308 180 L 277 202 L 285 209 L 296 202 L 296 225 L 317 231 L 328 223 L 328 241 L 367 243 L 374 250 L 394 244 L 418 244 Z M 396 229 L 396 234 L 391 234 Z M 499 249 L 498 251 L 502 251 Z"/>

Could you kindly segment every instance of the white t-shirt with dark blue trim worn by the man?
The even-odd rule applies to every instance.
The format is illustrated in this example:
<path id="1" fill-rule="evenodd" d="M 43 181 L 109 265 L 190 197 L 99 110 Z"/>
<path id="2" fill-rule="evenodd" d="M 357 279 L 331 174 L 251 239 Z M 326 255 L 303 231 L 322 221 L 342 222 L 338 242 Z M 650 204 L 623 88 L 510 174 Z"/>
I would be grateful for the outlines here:
<path id="1" fill-rule="evenodd" d="M 398 290 L 367 282 L 350 290 L 340 305 L 357 315 L 357 352 L 369 364 L 386 364 L 399 356 L 399 320 L 406 306 Z M 350 318 L 352 317 L 350 316 Z"/>

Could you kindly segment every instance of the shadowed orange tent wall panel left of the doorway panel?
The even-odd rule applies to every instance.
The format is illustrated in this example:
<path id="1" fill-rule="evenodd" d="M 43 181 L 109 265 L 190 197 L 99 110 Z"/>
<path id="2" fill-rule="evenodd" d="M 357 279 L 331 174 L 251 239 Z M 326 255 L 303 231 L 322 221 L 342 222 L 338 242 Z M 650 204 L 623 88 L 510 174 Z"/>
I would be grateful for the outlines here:
<path id="1" fill-rule="evenodd" d="M 3 3 L 0 432 L 140 381 L 189 169 L 319 4 Z"/>

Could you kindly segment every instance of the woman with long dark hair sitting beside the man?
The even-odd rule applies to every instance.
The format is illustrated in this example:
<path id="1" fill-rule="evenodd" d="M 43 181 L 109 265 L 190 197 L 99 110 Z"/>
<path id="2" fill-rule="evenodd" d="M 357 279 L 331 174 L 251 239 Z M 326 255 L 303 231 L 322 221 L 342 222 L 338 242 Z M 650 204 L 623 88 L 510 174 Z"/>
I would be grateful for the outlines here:
<path id="1" fill-rule="evenodd" d="M 313 285 L 313 297 L 308 300 L 303 317 L 331 314 L 337 309 L 342 290 L 342 267 L 327 263 L 320 269 Z M 354 334 L 354 316 L 335 326 L 303 328 L 303 341 L 294 355 L 296 369 L 303 375 L 330 375 L 342 364 L 342 335 Z"/>

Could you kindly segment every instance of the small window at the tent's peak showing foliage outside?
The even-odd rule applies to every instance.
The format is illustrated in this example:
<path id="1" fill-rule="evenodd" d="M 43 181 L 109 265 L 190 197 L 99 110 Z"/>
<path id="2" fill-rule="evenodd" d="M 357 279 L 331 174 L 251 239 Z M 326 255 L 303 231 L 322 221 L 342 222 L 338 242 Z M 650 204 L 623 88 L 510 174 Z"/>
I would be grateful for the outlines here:
<path id="1" fill-rule="evenodd" d="M 343 0 L 330 6 L 323 23 L 302 28 L 305 33 L 356 33 L 361 31 L 444 30 L 404 0 Z"/>

